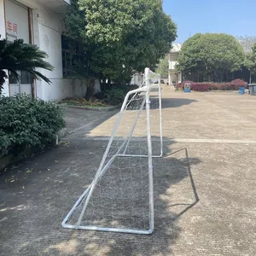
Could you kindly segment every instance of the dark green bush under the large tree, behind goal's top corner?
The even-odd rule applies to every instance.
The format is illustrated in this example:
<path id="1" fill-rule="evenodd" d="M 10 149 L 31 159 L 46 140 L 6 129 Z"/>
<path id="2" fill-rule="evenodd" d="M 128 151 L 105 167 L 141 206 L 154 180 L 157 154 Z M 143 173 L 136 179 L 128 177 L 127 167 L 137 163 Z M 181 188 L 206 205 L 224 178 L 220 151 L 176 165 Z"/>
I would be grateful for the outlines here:
<path id="1" fill-rule="evenodd" d="M 113 87 L 109 90 L 106 90 L 104 102 L 111 104 L 111 105 L 118 105 L 124 102 L 125 96 L 129 90 L 137 89 L 137 85 L 125 85 L 125 86 L 118 86 L 113 85 Z"/>

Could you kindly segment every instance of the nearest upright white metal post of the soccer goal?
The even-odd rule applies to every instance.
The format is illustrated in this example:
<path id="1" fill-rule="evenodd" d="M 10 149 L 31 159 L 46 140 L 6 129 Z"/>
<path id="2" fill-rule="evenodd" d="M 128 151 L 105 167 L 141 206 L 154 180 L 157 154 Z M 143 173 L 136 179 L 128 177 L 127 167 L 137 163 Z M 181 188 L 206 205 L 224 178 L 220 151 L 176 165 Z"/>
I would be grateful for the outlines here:
<path id="1" fill-rule="evenodd" d="M 147 112 L 147 137 L 148 137 L 148 192 L 149 192 L 149 230 L 154 230 L 154 185 L 153 185 L 153 163 L 152 163 L 152 143 L 150 131 L 150 82 L 149 82 L 149 68 L 145 69 L 146 77 L 146 112 Z"/>

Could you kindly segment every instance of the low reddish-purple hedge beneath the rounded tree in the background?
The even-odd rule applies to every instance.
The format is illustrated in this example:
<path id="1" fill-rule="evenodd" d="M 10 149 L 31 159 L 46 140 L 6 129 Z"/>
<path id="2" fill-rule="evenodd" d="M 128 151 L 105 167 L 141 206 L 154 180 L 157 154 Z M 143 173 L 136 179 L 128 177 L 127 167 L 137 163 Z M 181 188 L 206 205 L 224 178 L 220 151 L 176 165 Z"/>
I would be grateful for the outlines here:
<path id="1" fill-rule="evenodd" d="M 193 81 L 183 81 L 181 84 L 177 84 L 177 90 L 183 90 L 184 84 L 191 84 L 191 90 L 207 91 L 207 90 L 239 90 L 239 87 L 247 86 L 247 83 L 241 79 L 233 80 L 229 83 L 195 83 Z"/>

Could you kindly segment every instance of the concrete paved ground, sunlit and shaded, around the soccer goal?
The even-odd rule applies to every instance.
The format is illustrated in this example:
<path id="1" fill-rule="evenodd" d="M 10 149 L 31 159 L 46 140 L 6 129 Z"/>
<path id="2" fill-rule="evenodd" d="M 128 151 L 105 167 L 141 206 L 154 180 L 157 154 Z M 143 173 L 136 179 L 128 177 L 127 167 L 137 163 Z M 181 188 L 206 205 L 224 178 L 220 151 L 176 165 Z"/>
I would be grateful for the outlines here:
<path id="1" fill-rule="evenodd" d="M 0 255 L 255 255 L 256 97 L 170 87 L 163 97 L 152 236 L 61 228 L 116 119 L 116 112 L 69 109 L 73 132 L 59 147 L 0 175 Z"/>

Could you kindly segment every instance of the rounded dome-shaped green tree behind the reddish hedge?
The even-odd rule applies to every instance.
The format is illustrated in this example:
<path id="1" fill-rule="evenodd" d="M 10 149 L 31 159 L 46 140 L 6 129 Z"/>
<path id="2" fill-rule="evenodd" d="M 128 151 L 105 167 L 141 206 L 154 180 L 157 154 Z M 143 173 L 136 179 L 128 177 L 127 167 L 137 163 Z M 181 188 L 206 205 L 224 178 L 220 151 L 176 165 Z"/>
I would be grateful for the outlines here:
<path id="1" fill-rule="evenodd" d="M 244 52 L 236 38 L 224 33 L 195 34 L 181 49 L 177 70 L 184 75 L 198 73 L 211 81 L 226 79 L 241 68 Z"/>

